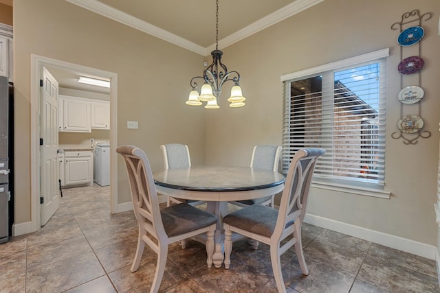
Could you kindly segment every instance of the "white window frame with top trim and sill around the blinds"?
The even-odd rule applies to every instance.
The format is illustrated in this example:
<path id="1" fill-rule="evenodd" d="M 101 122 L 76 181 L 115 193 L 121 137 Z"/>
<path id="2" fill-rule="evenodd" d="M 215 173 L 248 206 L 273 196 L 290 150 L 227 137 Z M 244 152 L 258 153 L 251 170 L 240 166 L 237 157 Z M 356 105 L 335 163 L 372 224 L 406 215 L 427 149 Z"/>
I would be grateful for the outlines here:
<path id="1" fill-rule="evenodd" d="M 321 65 L 318 67 L 313 67 L 310 69 L 305 69 L 302 71 L 296 71 L 294 73 L 287 73 L 281 75 L 281 82 L 283 82 L 283 100 L 285 101 L 283 106 L 283 111 L 285 111 L 287 106 L 290 106 L 289 99 L 287 97 L 289 93 L 287 92 L 286 84 L 290 84 L 291 80 L 308 78 L 310 76 L 318 75 L 319 73 L 326 73 L 328 71 L 339 71 L 341 69 L 347 69 L 349 67 L 357 67 L 366 62 L 371 62 L 375 60 L 380 60 L 389 56 L 389 48 L 381 49 L 378 51 L 373 51 L 368 54 L 363 54 L 360 56 L 355 56 L 352 58 L 347 58 L 344 60 L 331 62 L 326 65 Z M 289 104 L 289 105 L 287 105 Z M 285 113 L 283 114 L 283 120 L 285 118 Z M 283 132 L 286 131 L 283 126 Z M 283 141 L 284 144 L 284 141 Z M 283 148 L 285 152 L 285 148 Z M 283 158 L 284 159 L 284 158 Z M 332 191 L 342 191 L 351 194 L 359 194 L 364 196 L 374 196 L 378 198 L 390 198 L 390 192 L 384 190 L 384 184 L 366 183 L 366 182 L 356 182 L 355 180 L 322 180 L 320 178 L 314 178 L 312 182 L 312 187 L 332 190 Z"/>

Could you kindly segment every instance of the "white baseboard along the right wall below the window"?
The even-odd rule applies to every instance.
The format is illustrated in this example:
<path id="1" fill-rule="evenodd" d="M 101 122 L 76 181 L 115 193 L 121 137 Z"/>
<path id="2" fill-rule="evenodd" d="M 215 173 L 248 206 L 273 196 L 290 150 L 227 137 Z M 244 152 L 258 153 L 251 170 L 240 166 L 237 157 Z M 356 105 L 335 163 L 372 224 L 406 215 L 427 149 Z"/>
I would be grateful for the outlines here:
<path id="1" fill-rule="evenodd" d="M 318 215 L 311 215 L 309 213 L 306 213 L 304 222 L 353 237 L 358 237 L 360 239 L 364 239 L 376 244 L 395 248 L 406 253 L 419 255 L 420 257 L 426 257 L 427 259 L 436 259 L 436 256 L 438 255 L 437 247 L 433 245 L 424 244 L 391 234 L 373 231 L 367 228 L 354 226 L 344 222 L 322 218 Z M 439 261 L 438 257 L 437 261 Z"/>

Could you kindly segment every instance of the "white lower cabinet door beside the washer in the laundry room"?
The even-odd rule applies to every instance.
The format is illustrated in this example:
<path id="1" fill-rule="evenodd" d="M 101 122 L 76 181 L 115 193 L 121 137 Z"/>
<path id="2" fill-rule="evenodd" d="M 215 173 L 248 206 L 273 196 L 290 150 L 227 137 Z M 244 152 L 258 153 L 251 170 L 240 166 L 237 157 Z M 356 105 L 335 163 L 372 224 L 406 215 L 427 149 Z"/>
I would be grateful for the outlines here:
<path id="1" fill-rule="evenodd" d="M 65 159 L 65 185 L 91 183 L 93 180 L 93 165 L 89 158 Z"/>

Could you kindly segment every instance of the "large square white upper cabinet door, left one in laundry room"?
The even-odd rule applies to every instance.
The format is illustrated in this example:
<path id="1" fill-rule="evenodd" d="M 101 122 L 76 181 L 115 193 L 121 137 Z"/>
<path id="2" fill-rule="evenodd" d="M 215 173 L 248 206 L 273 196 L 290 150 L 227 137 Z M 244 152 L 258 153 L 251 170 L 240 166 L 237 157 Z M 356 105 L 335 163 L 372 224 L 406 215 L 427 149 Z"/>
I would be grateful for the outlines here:
<path id="1" fill-rule="evenodd" d="M 65 99 L 63 116 L 65 131 L 91 132 L 89 101 Z"/>

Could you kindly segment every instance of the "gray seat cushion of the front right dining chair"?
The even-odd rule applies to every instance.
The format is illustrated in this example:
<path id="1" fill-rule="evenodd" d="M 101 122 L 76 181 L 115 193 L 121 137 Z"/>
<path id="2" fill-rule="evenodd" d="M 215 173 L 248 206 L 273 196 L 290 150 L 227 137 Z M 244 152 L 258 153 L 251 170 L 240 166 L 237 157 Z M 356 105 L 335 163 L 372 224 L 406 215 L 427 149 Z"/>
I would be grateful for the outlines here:
<path id="1" fill-rule="evenodd" d="M 223 218 L 223 223 L 250 231 L 255 234 L 271 237 L 274 233 L 278 211 L 261 204 L 239 209 Z"/>

